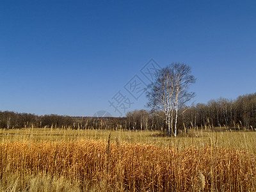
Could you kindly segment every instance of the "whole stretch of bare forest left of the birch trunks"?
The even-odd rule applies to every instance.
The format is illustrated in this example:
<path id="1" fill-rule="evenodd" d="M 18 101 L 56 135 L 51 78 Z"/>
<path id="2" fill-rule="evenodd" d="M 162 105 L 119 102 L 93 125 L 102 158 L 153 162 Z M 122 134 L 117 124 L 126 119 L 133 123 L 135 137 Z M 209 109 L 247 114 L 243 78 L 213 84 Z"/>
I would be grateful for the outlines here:
<path id="1" fill-rule="evenodd" d="M 15 113 L 0 111 L 0 129 L 20 128 L 63 128 L 63 129 L 128 129 L 128 130 L 157 130 L 165 129 L 162 115 L 150 114 L 147 110 L 134 110 L 125 117 L 90 117 L 35 115 L 31 113 Z"/>

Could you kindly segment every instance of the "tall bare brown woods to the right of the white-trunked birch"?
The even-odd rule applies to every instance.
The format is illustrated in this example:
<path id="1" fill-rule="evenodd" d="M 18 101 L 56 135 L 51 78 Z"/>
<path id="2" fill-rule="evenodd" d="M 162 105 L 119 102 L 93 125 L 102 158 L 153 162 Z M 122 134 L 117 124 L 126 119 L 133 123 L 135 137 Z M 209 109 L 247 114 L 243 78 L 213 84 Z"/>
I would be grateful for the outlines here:
<path id="1" fill-rule="evenodd" d="M 256 93 L 237 99 L 212 99 L 207 104 L 196 104 L 182 110 L 182 119 L 187 126 L 256 127 Z"/>

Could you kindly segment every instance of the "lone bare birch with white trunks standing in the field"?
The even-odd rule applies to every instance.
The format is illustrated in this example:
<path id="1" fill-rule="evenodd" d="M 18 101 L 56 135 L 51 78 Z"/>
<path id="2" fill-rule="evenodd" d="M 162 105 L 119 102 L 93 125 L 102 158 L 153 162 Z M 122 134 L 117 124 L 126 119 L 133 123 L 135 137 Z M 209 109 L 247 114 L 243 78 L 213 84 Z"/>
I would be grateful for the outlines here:
<path id="1" fill-rule="evenodd" d="M 163 111 L 168 136 L 177 136 L 177 117 L 179 109 L 188 102 L 195 93 L 189 93 L 189 84 L 195 83 L 191 76 L 191 69 L 184 63 L 172 63 L 156 73 L 156 81 L 148 86 L 148 107 L 156 111 Z M 173 132 L 173 113 L 175 112 L 175 125 Z"/>

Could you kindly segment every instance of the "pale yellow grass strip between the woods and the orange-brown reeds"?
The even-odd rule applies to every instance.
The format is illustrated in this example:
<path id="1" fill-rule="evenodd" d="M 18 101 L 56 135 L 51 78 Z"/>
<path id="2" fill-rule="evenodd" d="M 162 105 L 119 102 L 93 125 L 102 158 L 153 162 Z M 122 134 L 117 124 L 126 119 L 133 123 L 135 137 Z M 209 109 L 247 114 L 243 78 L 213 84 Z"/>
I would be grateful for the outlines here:
<path id="1" fill-rule="evenodd" d="M 224 131 L 223 131 L 224 130 Z M 0 129 L 0 141 L 29 141 L 42 143 L 51 142 L 73 142 L 83 139 L 108 141 L 109 131 L 99 129 Z M 204 131 L 200 129 L 189 129 L 184 136 L 167 137 L 161 131 L 126 131 L 120 129 L 111 131 L 111 138 L 127 143 L 147 143 L 159 147 L 182 148 L 194 146 L 204 148 L 205 145 L 213 147 L 235 148 L 237 150 L 248 150 L 256 154 L 256 131 L 225 131 L 225 129 Z"/>

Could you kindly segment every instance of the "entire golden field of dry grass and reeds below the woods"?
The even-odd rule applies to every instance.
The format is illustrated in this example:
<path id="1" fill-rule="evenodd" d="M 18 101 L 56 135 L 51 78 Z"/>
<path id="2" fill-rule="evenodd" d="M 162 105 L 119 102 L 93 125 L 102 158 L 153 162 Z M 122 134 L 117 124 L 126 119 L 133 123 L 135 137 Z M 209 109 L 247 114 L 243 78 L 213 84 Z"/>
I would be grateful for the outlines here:
<path id="1" fill-rule="evenodd" d="M 256 132 L 0 130 L 1 191 L 256 191 Z"/>

